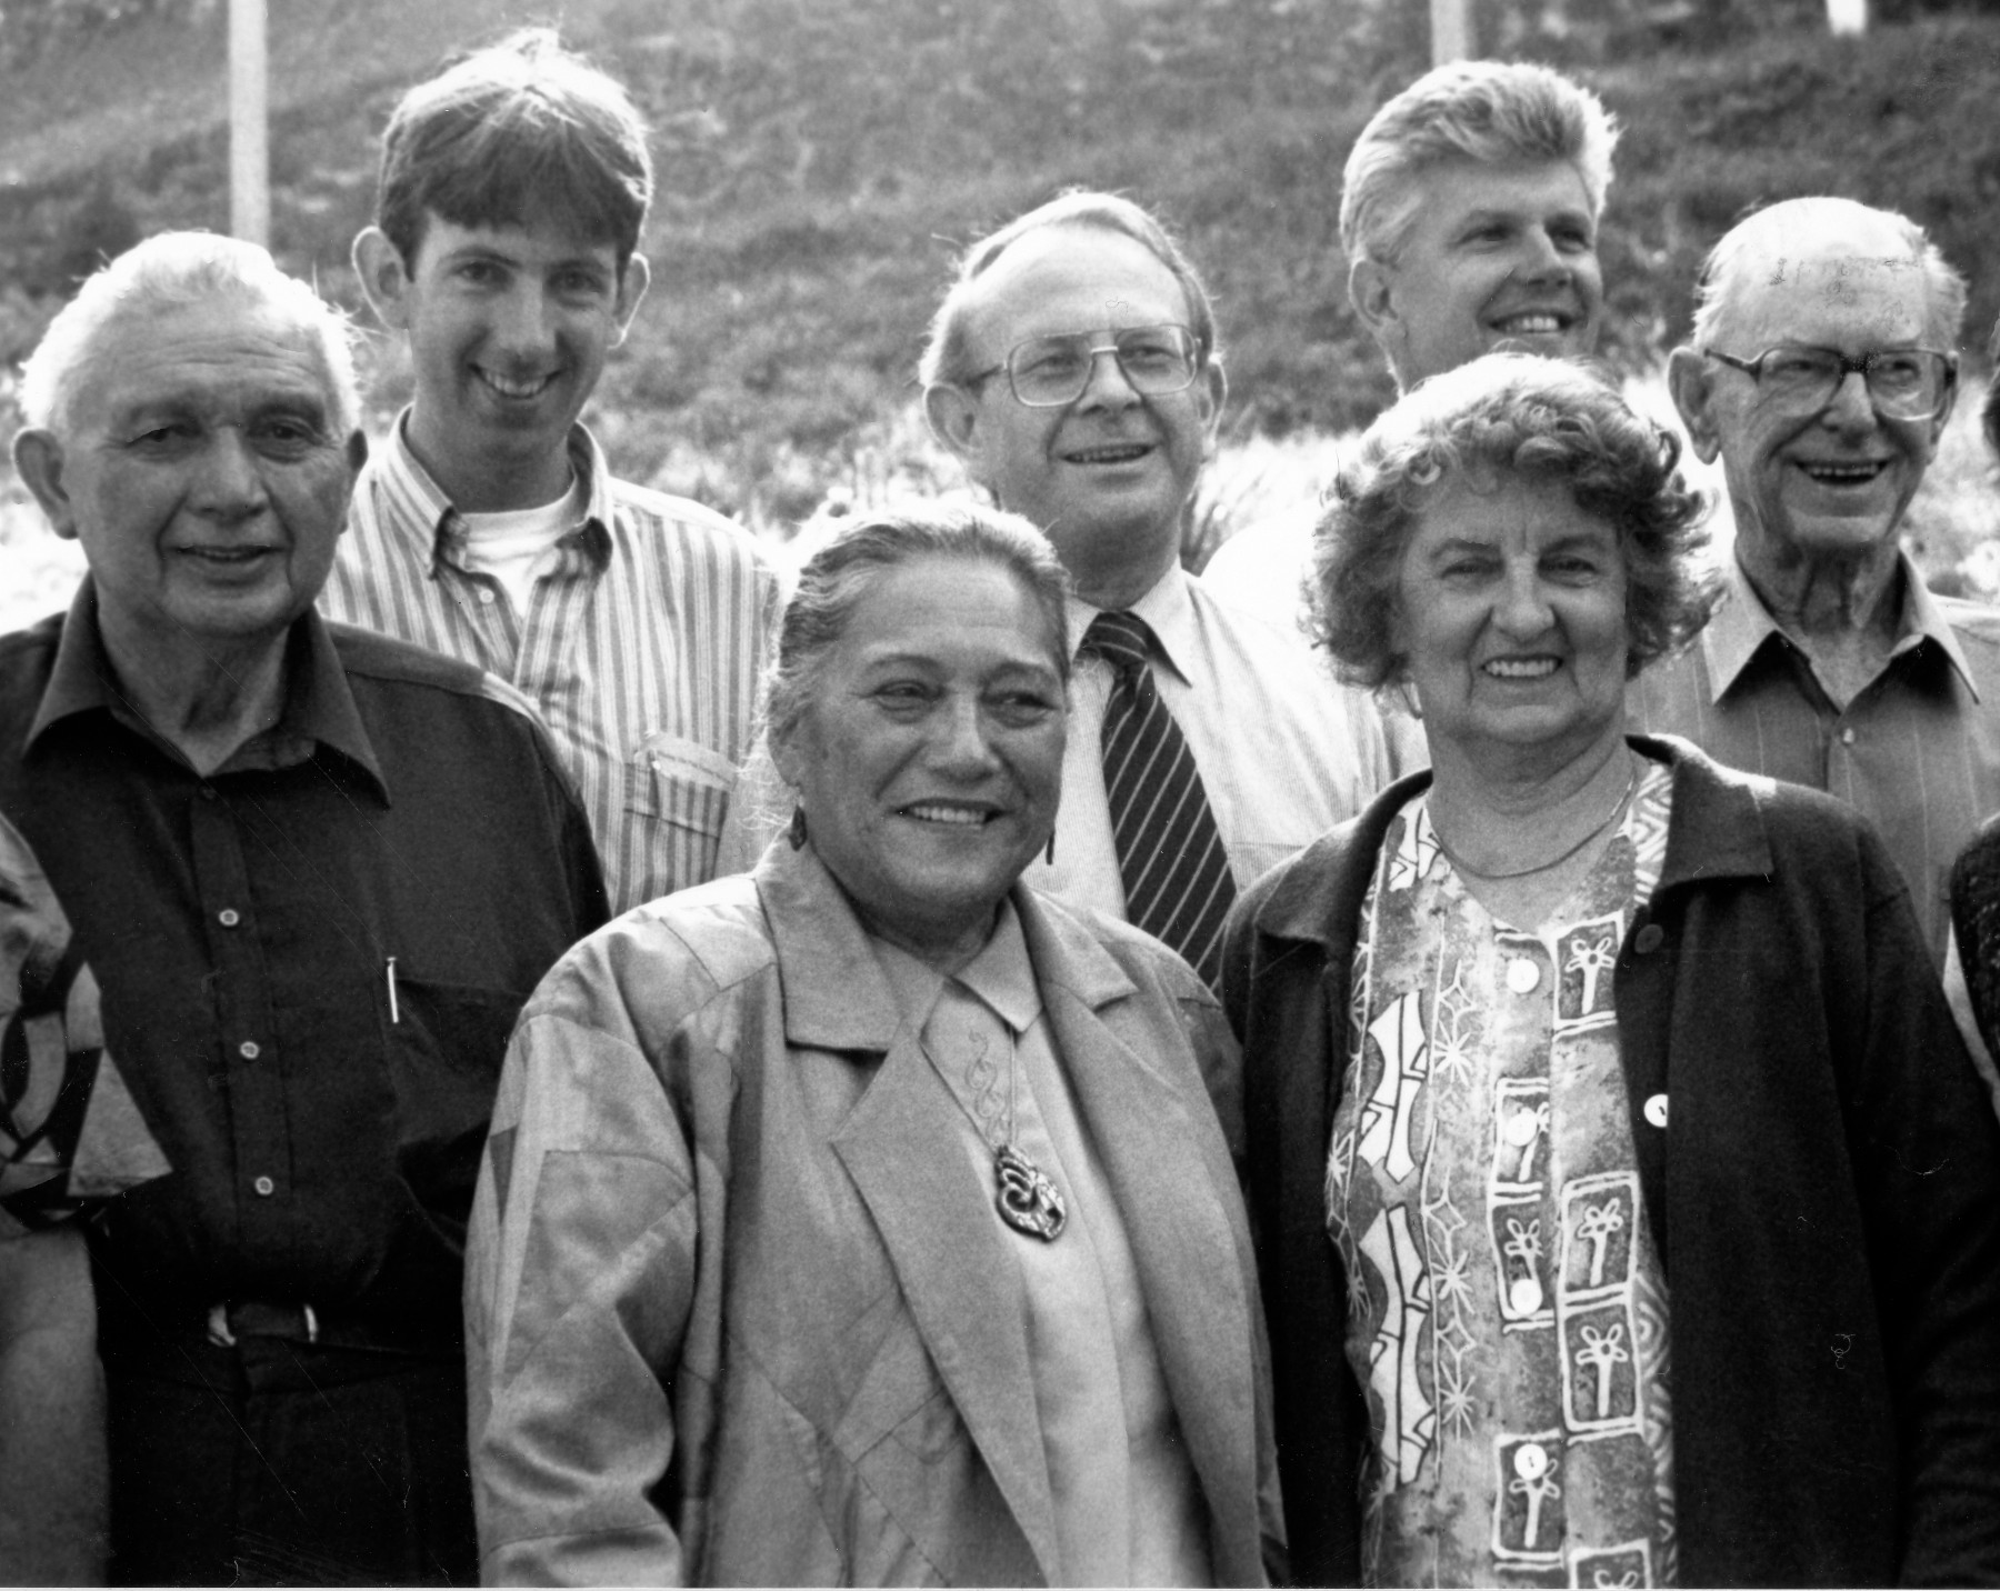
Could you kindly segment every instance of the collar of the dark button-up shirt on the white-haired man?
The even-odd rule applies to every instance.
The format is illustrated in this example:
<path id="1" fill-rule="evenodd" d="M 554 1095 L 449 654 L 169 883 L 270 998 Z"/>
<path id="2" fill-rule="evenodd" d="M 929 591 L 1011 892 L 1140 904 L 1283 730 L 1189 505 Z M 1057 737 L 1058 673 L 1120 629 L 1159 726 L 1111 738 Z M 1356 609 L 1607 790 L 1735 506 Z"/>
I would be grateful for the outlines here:
<path id="1" fill-rule="evenodd" d="M 56 642 L 56 662 L 50 666 L 42 702 L 28 726 L 24 750 L 32 748 L 58 720 L 94 710 L 144 724 L 118 690 L 118 674 L 112 670 L 104 638 L 98 632 L 96 582 L 86 574 L 76 588 L 70 616 L 64 620 L 62 640 Z M 382 764 L 368 740 L 360 708 L 354 706 L 354 692 L 348 690 L 348 674 L 334 650 L 334 636 L 314 608 L 308 608 L 292 624 L 284 708 L 278 714 L 278 724 L 250 746 L 286 740 L 338 752 L 374 782 L 384 801 L 388 799 L 388 780 L 382 776 Z M 238 756 L 242 754 L 238 752 Z M 234 764 L 236 758 L 230 758 L 218 772 L 234 772 Z"/>

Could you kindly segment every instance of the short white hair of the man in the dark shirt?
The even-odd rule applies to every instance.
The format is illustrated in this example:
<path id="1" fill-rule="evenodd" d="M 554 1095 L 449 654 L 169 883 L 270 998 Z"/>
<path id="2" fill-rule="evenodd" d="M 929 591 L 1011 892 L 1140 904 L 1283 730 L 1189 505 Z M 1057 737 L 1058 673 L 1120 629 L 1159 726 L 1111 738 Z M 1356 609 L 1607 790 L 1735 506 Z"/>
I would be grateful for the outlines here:
<path id="1" fill-rule="evenodd" d="M 36 430 L 76 424 L 76 394 L 88 368 L 116 354 L 110 332 L 128 316 L 158 316 L 228 300 L 270 308 L 308 332 L 326 366 L 342 432 L 360 424 L 360 386 L 348 320 L 256 244 L 212 232 L 162 232 L 92 274 L 62 306 L 20 372 L 20 410 Z"/>

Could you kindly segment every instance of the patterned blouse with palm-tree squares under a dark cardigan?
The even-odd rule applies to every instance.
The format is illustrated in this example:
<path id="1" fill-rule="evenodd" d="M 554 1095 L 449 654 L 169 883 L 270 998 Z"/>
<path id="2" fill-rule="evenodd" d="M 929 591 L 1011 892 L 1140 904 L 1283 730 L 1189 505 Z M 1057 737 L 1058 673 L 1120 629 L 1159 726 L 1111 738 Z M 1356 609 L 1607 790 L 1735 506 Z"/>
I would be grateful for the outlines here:
<path id="1" fill-rule="evenodd" d="M 1612 1011 L 1668 805 L 1648 764 L 1532 933 L 1472 897 L 1426 796 L 1384 839 L 1326 1169 L 1370 1583 L 1674 1583 L 1666 1277 Z"/>

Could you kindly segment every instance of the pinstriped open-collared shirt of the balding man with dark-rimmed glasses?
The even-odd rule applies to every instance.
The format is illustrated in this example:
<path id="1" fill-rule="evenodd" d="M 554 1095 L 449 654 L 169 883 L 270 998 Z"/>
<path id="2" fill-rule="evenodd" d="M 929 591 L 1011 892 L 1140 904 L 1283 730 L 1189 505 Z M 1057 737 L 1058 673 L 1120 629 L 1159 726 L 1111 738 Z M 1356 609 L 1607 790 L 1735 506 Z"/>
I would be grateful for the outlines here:
<path id="1" fill-rule="evenodd" d="M 1734 558 L 1728 582 L 1694 646 L 1632 682 L 1632 728 L 1684 736 L 1716 762 L 1830 792 L 1868 817 L 1942 961 L 1952 861 L 2000 811 L 2000 612 L 1932 596 L 1904 554 L 1896 648 L 1842 712 Z"/>

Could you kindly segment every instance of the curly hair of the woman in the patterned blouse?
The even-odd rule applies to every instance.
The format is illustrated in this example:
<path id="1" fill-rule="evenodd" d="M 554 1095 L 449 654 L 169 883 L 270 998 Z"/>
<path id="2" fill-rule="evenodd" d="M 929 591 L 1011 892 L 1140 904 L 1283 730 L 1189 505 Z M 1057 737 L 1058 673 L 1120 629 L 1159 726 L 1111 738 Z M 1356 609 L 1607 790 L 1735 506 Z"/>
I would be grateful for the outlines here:
<path id="1" fill-rule="evenodd" d="M 1314 532 L 1310 632 L 1340 678 L 1408 678 L 1396 650 L 1402 560 L 1448 484 L 1562 482 L 1618 532 L 1626 570 L 1626 676 L 1684 646 L 1714 612 L 1702 568 L 1708 504 L 1678 472 L 1680 438 L 1596 376 L 1538 354 L 1486 354 L 1432 376 L 1388 410 L 1334 478 Z"/>

